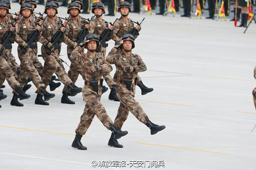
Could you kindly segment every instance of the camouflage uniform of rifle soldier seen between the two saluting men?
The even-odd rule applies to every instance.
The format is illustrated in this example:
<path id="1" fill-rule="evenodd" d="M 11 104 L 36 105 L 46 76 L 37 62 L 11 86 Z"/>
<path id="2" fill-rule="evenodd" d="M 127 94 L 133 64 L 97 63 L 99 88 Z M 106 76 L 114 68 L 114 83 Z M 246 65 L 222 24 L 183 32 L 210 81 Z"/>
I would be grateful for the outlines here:
<path id="1" fill-rule="evenodd" d="M 99 19 L 96 17 L 90 22 L 90 29 L 89 34 L 97 34 L 99 37 L 102 35 L 102 33 L 108 28 L 107 21 L 103 20 L 102 22 L 99 21 Z M 116 37 L 115 34 L 111 34 L 109 40 L 120 41 L 118 37 Z M 106 47 L 101 47 L 99 49 L 99 53 L 102 53 L 103 56 L 106 56 Z M 99 54 L 98 53 L 98 54 Z M 112 88 L 113 85 L 116 85 L 116 83 L 113 81 L 113 78 L 109 73 L 103 74 L 103 77 L 105 81 L 108 84 L 109 88 Z"/>

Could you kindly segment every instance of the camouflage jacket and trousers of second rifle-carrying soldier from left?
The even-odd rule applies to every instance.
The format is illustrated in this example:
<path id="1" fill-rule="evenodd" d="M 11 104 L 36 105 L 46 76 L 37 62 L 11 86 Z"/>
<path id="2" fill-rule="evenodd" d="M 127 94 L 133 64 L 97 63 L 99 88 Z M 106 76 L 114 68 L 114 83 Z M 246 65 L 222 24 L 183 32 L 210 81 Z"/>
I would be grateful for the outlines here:
<path id="1" fill-rule="evenodd" d="M 38 89 L 44 88 L 44 82 L 42 82 L 41 77 L 38 74 L 35 66 L 33 65 L 33 61 L 37 58 L 37 42 L 32 43 L 32 47 L 28 48 L 26 54 L 23 54 L 22 48 L 27 46 L 27 41 L 29 35 L 36 29 L 35 23 L 30 21 L 27 23 L 23 17 L 16 24 L 16 38 L 15 42 L 17 42 L 18 46 L 18 56 L 20 59 L 21 71 L 20 76 L 18 77 L 18 82 L 20 82 L 20 87 L 26 84 L 28 77 L 31 78 L 33 84 Z M 43 45 L 47 45 L 48 41 L 44 39 L 41 35 L 38 36 L 38 41 Z"/>

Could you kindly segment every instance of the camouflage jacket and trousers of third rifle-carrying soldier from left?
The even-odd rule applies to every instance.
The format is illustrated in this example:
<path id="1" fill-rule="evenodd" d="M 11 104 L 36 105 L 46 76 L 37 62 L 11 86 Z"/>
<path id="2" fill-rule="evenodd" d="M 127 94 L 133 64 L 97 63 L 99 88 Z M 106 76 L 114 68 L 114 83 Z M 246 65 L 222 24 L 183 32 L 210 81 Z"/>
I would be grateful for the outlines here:
<path id="1" fill-rule="evenodd" d="M 52 23 L 48 18 L 44 21 L 42 25 L 42 31 L 41 35 L 49 42 L 52 41 L 52 37 L 55 35 L 55 33 L 60 30 L 61 23 L 60 20 L 55 17 L 55 22 Z M 70 46 L 75 47 L 76 43 L 68 39 L 65 35 L 62 38 L 62 41 Z M 57 49 L 59 48 L 59 49 Z M 47 54 L 47 48 L 43 45 L 41 47 L 41 53 L 42 57 L 45 61 L 44 68 L 42 70 L 42 74 L 44 77 L 42 78 L 45 88 L 49 85 L 49 82 L 52 78 L 52 74 L 55 73 L 61 82 L 64 83 L 64 85 L 70 85 L 72 83 L 72 80 L 68 77 L 67 73 L 65 72 L 64 66 L 61 62 L 61 59 L 59 57 L 60 51 L 61 51 L 61 43 L 58 44 L 58 47 L 52 51 L 51 54 Z"/>

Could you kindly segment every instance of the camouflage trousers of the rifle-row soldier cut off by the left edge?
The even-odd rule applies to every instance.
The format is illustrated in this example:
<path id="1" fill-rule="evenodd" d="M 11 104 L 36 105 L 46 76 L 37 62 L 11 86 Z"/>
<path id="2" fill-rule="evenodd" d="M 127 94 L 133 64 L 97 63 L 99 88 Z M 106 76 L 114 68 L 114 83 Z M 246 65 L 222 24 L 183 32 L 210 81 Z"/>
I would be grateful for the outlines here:
<path id="1" fill-rule="evenodd" d="M 20 87 L 20 83 L 15 79 L 15 73 L 12 71 L 12 68 L 9 66 L 6 59 L 2 56 L 0 56 L 0 77 L 0 86 L 3 85 L 4 79 L 6 79 L 12 89 Z"/>

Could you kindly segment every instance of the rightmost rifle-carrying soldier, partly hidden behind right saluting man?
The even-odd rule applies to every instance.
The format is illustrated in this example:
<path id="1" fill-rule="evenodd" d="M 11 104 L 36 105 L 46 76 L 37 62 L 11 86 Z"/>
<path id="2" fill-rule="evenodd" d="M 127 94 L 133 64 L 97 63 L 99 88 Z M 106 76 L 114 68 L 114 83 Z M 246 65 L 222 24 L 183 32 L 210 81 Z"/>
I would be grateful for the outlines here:
<path id="1" fill-rule="evenodd" d="M 124 34 L 128 34 L 134 28 L 136 28 L 138 30 L 138 32 L 141 30 L 140 26 L 134 27 L 134 23 L 131 21 L 130 18 L 128 18 L 128 14 L 129 14 L 129 12 L 131 12 L 131 4 L 130 3 L 126 2 L 126 1 L 119 3 L 118 12 L 120 12 L 121 17 L 118 20 L 116 20 L 116 22 L 114 24 L 113 33 L 116 34 L 116 36 L 119 39 L 121 39 Z M 135 35 L 135 38 L 137 38 L 138 35 L 139 35 L 139 33 L 137 33 Z M 116 41 L 116 44 L 117 43 L 118 42 Z M 122 49 L 119 49 L 117 52 L 121 53 Z M 140 87 L 142 95 L 150 93 L 151 91 L 154 90 L 153 88 L 146 87 L 143 84 L 139 75 L 138 75 L 138 78 L 139 79 L 138 79 L 137 85 Z M 114 75 L 114 81 L 116 81 L 116 74 Z"/>

